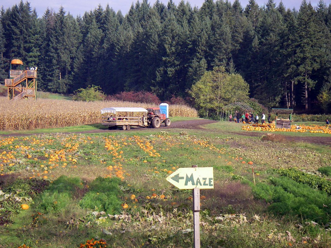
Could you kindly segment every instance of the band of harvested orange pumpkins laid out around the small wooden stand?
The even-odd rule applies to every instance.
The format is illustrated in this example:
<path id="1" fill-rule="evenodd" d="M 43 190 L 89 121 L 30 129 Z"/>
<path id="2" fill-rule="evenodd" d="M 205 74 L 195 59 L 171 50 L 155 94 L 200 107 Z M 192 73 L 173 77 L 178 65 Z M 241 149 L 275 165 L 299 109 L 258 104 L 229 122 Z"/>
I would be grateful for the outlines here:
<path id="1" fill-rule="evenodd" d="M 331 134 L 331 129 L 327 129 L 326 126 L 319 126 L 319 125 L 299 125 L 300 129 L 297 129 L 296 125 L 291 125 L 290 129 L 286 128 L 276 128 L 274 124 L 253 124 L 253 125 L 245 125 L 242 126 L 242 130 L 246 131 L 267 131 L 267 132 L 298 132 L 304 133 L 310 130 L 310 133 L 323 133 L 323 134 Z"/>

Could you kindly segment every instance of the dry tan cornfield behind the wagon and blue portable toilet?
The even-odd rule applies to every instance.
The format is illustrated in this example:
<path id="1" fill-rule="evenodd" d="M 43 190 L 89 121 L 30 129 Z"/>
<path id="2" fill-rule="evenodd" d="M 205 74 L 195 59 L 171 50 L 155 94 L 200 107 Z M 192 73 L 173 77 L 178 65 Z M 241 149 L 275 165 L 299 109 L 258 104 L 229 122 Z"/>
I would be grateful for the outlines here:
<path id="1" fill-rule="evenodd" d="M 39 99 L 9 102 L 0 97 L 0 130 L 67 127 L 101 122 L 100 110 L 105 107 L 156 107 L 155 104 L 123 101 L 75 102 Z M 169 105 L 169 116 L 196 117 L 194 108 Z"/>

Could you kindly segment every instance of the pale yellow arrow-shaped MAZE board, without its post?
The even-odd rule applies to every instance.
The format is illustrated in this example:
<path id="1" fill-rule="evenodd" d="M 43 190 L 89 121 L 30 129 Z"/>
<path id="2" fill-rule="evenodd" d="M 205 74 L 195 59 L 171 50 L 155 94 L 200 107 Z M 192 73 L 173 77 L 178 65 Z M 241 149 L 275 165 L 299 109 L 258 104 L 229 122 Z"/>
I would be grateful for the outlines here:
<path id="1" fill-rule="evenodd" d="M 166 180 L 180 189 L 214 188 L 213 167 L 179 168 Z"/>

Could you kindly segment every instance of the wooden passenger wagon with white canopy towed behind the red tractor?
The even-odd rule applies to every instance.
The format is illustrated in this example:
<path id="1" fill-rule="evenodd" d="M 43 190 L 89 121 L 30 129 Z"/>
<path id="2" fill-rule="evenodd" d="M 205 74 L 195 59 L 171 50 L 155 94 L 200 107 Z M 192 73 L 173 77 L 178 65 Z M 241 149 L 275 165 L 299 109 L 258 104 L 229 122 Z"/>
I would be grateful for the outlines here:
<path id="1" fill-rule="evenodd" d="M 130 130 L 131 127 L 147 127 L 147 109 L 142 107 L 111 107 L 101 109 L 102 125 L 108 129 L 120 127 Z"/>

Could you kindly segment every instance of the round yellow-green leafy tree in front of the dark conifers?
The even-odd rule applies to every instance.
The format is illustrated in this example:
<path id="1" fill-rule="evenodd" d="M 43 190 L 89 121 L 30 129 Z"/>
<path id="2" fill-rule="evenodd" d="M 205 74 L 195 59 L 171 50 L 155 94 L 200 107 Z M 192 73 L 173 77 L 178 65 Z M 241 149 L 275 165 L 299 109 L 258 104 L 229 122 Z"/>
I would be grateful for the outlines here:
<path id="1" fill-rule="evenodd" d="M 229 74 L 224 67 L 206 71 L 201 79 L 192 85 L 189 93 L 194 99 L 200 116 L 219 115 L 226 104 L 246 101 L 249 86 L 239 74 Z"/>

